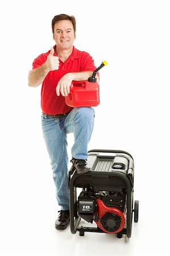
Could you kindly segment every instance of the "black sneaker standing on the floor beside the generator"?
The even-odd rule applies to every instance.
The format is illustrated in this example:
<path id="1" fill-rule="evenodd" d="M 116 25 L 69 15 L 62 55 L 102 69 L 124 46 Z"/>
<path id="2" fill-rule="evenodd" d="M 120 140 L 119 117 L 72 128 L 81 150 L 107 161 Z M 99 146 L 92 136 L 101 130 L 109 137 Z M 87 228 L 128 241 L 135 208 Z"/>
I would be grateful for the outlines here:
<path id="1" fill-rule="evenodd" d="M 56 229 L 66 229 L 69 224 L 69 210 L 60 210 L 59 217 L 55 222 Z"/>

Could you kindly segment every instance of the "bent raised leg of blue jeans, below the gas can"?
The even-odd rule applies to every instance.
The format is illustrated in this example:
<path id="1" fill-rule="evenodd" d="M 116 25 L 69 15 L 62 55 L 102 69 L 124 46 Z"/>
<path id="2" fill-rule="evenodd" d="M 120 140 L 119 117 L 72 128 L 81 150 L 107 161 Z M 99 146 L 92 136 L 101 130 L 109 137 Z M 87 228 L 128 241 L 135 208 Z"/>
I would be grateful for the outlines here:
<path id="1" fill-rule="evenodd" d="M 93 108 L 74 108 L 65 118 L 65 128 L 74 134 L 72 156 L 75 159 L 88 159 L 88 142 L 94 126 Z"/>

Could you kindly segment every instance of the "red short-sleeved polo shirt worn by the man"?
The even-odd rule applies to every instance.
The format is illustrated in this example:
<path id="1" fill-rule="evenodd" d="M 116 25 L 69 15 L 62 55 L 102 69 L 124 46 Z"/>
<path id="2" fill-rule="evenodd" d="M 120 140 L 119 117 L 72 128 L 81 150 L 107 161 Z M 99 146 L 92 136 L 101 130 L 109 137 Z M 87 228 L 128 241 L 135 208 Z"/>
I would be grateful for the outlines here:
<path id="1" fill-rule="evenodd" d="M 56 46 L 53 47 L 54 49 Z M 38 68 L 45 63 L 49 52 L 42 53 L 33 62 L 32 68 Z M 54 53 L 56 56 L 56 53 Z M 59 59 L 60 60 L 60 59 Z M 41 92 L 41 107 L 46 114 L 64 114 L 71 111 L 73 108 L 65 104 L 65 97 L 61 94 L 57 96 L 56 86 L 66 73 L 80 71 L 94 71 L 96 69 L 94 60 L 89 53 L 79 51 L 73 47 L 71 56 L 63 63 L 60 60 L 60 67 L 56 71 L 49 71 L 42 83 Z"/>

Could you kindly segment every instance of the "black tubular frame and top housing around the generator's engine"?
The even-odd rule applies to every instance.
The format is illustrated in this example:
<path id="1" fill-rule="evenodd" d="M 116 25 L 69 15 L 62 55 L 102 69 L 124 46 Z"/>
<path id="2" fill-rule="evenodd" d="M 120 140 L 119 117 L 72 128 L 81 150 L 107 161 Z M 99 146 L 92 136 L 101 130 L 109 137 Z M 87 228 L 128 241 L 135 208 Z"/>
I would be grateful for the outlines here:
<path id="1" fill-rule="evenodd" d="M 134 198 L 134 160 L 132 156 L 122 150 L 101 150 L 94 149 L 88 151 L 88 164 L 91 171 L 85 174 L 77 174 L 75 170 L 69 172 L 69 192 L 70 192 L 70 217 L 71 217 L 71 232 L 75 234 L 80 232 L 80 236 L 84 236 L 85 232 L 105 233 L 100 228 L 92 228 L 79 226 L 81 217 L 77 210 L 77 188 L 92 187 L 94 191 L 122 191 L 126 189 L 126 227 L 117 234 L 118 238 L 131 237 L 132 230 L 132 214 L 135 213 L 135 222 L 138 222 L 138 207 L 139 201 L 135 201 L 135 209 L 133 209 Z M 123 157 L 128 160 L 126 170 L 115 170 L 111 167 L 113 159 Z M 100 170 L 97 164 L 100 164 Z M 108 167 L 110 166 L 110 167 Z"/>

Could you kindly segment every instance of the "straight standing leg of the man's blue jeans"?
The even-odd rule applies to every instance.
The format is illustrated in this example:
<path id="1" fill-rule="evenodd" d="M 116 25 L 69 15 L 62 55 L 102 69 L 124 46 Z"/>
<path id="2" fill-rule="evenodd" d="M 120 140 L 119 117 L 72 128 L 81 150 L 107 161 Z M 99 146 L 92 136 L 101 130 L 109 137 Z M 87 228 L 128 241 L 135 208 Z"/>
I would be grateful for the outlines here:
<path id="1" fill-rule="evenodd" d="M 65 119 L 65 117 L 63 118 Z M 67 134 L 61 118 L 45 118 L 42 129 L 56 186 L 56 199 L 61 210 L 69 209 Z"/>

